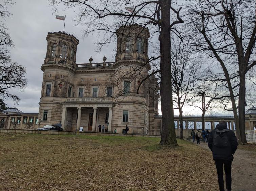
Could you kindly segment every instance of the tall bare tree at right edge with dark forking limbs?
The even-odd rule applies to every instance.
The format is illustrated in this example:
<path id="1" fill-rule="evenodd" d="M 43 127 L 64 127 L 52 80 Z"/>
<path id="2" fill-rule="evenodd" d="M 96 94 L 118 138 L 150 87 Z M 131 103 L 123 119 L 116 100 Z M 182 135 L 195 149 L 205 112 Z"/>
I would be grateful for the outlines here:
<path id="1" fill-rule="evenodd" d="M 245 138 L 246 75 L 256 65 L 256 2 L 253 0 L 193 0 L 188 10 L 188 41 L 192 49 L 213 58 L 223 70 L 215 76 L 227 87 L 237 137 Z M 214 74 L 213 74 L 214 75 Z M 238 100 L 236 100 L 238 98 Z M 224 103 L 223 103 L 224 104 Z M 228 105 L 225 104 L 225 109 Z M 238 109 L 238 112 L 237 112 Z"/>

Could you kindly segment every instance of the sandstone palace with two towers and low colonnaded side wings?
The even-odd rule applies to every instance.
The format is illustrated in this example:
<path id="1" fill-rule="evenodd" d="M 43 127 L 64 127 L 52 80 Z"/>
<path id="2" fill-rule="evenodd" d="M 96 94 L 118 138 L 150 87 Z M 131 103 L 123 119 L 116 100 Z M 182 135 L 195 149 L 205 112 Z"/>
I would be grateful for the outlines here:
<path id="1" fill-rule="evenodd" d="M 149 30 L 139 25 L 121 26 L 117 31 L 115 62 L 76 63 L 79 40 L 65 32 L 48 33 L 39 113 L 23 113 L 17 108 L 0 112 L 0 128 L 36 129 L 62 124 L 65 131 L 99 131 L 160 135 L 162 117 L 158 115 L 159 81 L 150 74 L 147 46 Z M 138 87 L 140 87 L 138 89 Z M 164 107 L 164 106 L 163 106 Z M 175 116 L 176 135 L 179 135 Z M 200 116 L 184 116 L 184 136 L 200 128 Z M 234 118 L 205 116 L 206 129 L 214 129 L 225 119 L 235 130 Z M 208 124 L 208 125 L 207 125 Z M 256 126 L 256 108 L 246 112 L 246 129 Z"/>

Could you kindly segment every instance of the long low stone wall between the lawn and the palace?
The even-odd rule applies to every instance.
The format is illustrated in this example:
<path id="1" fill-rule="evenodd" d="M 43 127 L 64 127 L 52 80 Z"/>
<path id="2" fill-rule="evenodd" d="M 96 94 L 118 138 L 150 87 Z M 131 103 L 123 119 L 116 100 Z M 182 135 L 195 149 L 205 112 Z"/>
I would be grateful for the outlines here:
<path id="1" fill-rule="evenodd" d="M 158 138 L 161 137 L 159 135 L 76 132 L 76 131 L 38 131 L 38 130 L 28 130 L 28 129 L 0 129 L 0 133 L 28 133 L 28 134 L 44 134 L 44 135 L 97 135 L 97 136 L 158 137 Z"/>

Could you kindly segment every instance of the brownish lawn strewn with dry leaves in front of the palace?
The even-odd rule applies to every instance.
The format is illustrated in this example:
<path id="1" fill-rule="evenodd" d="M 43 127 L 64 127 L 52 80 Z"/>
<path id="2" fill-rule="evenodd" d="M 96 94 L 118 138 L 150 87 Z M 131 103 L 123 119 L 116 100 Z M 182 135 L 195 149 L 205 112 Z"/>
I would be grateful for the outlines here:
<path id="1" fill-rule="evenodd" d="M 175 148 L 159 141 L 0 134 L 0 189 L 218 190 L 210 152 L 188 141 Z"/>

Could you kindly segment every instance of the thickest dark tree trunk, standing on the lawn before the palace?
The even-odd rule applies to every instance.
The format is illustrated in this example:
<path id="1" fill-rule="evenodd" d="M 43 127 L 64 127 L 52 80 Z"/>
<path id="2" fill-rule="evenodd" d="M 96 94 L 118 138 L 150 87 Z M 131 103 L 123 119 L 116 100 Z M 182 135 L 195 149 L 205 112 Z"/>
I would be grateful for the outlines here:
<path id="1" fill-rule="evenodd" d="M 161 109 L 162 109 L 162 133 L 161 145 L 177 145 L 173 100 L 171 88 L 171 35 L 170 35 L 170 7 L 171 0 L 160 0 L 161 6 L 161 32 L 160 41 L 160 69 L 161 69 Z"/>

